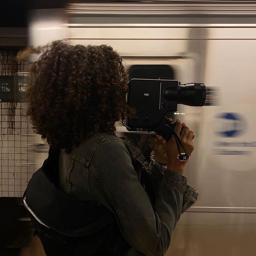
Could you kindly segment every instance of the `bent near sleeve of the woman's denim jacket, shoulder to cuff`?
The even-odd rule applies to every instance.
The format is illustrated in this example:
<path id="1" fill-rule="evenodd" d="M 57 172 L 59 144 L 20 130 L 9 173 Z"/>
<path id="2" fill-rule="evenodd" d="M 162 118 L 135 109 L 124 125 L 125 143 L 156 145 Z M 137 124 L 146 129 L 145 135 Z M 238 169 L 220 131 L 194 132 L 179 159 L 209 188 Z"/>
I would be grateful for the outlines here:
<path id="1" fill-rule="evenodd" d="M 123 237 L 146 256 L 163 256 L 182 213 L 187 179 L 167 170 L 153 209 L 131 157 L 118 140 L 107 140 L 89 166 L 89 193 L 116 217 Z"/>

